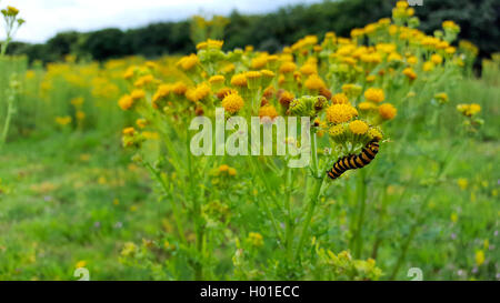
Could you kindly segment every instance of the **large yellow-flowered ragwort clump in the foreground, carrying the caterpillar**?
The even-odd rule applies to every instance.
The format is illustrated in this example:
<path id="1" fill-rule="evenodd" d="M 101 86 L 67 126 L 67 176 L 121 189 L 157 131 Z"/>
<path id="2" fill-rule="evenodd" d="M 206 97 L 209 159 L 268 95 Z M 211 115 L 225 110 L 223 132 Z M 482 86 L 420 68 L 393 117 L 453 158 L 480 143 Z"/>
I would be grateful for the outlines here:
<path id="1" fill-rule="evenodd" d="M 389 215 L 384 189 L 397 168 L 368 164 L 378 162 L 378 153 L 398 159 L 409 148 L 410 137 L 436 135 L 417 128 L 433 130 L 442 123 L 440 114 L 449 103 L 444 89 L 477 54 L 459 53 L 452 46 L 460 30 L 454 22 L 446 21 L 442 31 L 427 36 L 417 29 L 413 14 L 406 1 L 399 1 L 392 19 L 353 29 L 350 38 L 328 32 L 320 41 L 308 36 L 277 54 L 252 47 L 224 52 L 223 41 L 208 39 L 197 44 L 197 53 L 177 62 L 184 77 L 173 82 L 162 81 L 153 63 L 130 67 L 123 75 L 130 91 L 118 104 L 139 119 L 123 130 L 123 145 L 158 182 L 176 228 L 162 235 L 162 243 L 129 243 L 122 261 L 161 272 L 163 279 L 382 276 L 374 259 Z M 223 109 L 223 117 L 217 108 Z M 469 118 L 470 128 L 480 124 L 476 105 L 459 110 Z M 258 117 L 259 130 L 272 130 L 282 117 L 307 118 L 307 123 L 300 125 L 299 137 L 277 135 L 273 155 L 261 155 L 263 148 L 251 155 L 194 155 L 191 142 L 198 134 L 189 125 L 197 117 L 223 119 L 231 125 L 226 141 L 237 141 L 246 154 L 251 154 L 252 144 L 239 137 L 242 124 L 234 128 L 232 118 L 242 117 L 249 125 Z M 283 121 L 289 127 L 290 120 Z M 456 129 L 446 131 L 457 135 Z M 302 144 L 309 135 L 310 144 Z M 148 144 L 152 138 L 161 142 L 153 153 Z M 213 137 L 208 141 L 203 147 L 210 151 L 220 148 Z M 291 168 L 297 156 L 278 155 L 283 145 L 310 153 L 308 165 Z M 451 163 L 450 155 L 457 153 L 446 155 L 434 181 L 424 185 L 389 277 L 397 276 L 429 198 Z M 380 230 L 367 249 L 369 196 L 380 210 L 371 219 Z M 342 200 L 351 210 L 349 228 L 336 244 L 329 233 L 339 222 L 331 221 L 326 209 Z"/>

